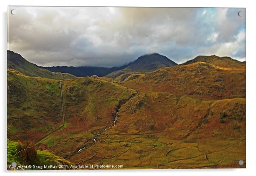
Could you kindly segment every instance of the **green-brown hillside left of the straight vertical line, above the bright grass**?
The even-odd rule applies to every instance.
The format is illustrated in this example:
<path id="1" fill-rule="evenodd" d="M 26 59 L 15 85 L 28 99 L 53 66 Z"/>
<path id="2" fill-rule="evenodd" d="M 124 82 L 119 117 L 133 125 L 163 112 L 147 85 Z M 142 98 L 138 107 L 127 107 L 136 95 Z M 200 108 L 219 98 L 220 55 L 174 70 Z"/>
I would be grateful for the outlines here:
<path id="1" fill-rule="evenodd" d="M 7 136 L 36 141 L 61 125 L 60 82 L 7 71 Z"/>

